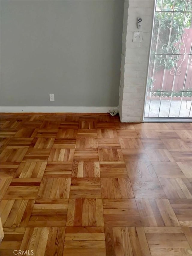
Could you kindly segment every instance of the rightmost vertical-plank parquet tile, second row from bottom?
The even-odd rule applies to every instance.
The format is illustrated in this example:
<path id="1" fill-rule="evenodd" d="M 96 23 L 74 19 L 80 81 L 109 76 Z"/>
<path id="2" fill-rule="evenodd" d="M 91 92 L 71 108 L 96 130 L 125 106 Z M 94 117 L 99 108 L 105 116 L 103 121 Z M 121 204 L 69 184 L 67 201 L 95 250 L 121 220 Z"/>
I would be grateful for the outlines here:
<path id="1" fill-rule="evenodd" d="M 180 226 L 168 199 L 136 198 L 143 226 Z"/>

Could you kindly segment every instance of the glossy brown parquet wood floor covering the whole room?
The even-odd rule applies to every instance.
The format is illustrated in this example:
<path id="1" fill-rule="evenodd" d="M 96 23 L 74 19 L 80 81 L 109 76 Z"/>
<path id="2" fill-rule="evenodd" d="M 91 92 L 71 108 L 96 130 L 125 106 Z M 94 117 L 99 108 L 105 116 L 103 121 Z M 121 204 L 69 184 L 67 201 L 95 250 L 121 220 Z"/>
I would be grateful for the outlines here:
<path id="1" fill-rule="evenodd" d="M 192 255 L 192 123 L 1 114 L 0 137 L 2 256 Z"/>

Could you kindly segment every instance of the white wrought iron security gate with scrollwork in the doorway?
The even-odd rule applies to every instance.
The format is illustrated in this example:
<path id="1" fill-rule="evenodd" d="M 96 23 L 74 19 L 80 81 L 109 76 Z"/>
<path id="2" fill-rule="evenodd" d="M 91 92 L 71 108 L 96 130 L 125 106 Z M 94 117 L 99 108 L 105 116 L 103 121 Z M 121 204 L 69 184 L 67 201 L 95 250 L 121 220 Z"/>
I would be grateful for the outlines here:
<path id="1" fill-rule="evenodd" d="M 192 117 L 192 0 L 157 0 L 144 120 Z"/>

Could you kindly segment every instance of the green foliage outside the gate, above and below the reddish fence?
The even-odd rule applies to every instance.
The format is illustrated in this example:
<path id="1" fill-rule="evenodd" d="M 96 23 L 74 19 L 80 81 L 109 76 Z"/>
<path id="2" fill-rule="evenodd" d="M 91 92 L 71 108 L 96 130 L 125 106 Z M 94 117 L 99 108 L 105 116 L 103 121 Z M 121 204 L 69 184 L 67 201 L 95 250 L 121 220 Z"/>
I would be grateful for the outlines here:
<path id="1" fill-rule="evenodd" d="M 175 7 L 174 7 L 175 3 Z M 174 13 L 173 13 L 174 10 Z M 184 11 L 187 11 L 184 13 Z M 163 11 L 163 12 L 160 12 Z M 192 0 L 157 0 L 155 23 L 152 38 L 152 51 L 150 59 L 150 67 L 155 67 L 155 72 L 159 70 L 171 70 L 176 66 L 176 54 L 184 53 L 183 42 L 181 40 L 184 28 L 192 28 Z M 161 19 L 161 20 L 160 20 Z M 172 28 L 171 28 L 172 24 Z M 160 29 L 159 29 L 160 27 Z M 159 30 L 159 35 L 158 35 Z M 170 41 L 169 41 L 170 38 Z M 158 42 L 157 42 L 158 39 Z M 181 41 L 181 44 L 180 44 Z M 158 45 L 157 45 L 158 43 Z M 180 45 L 180 52 L 179 52 Z M 155 60 L 155 52 L 157 48 L 157 55 Z M 173 56 L 173 57 L 172 57 Z M 166 59 L 167 58 L 167 59 Z M 166 67 L 165 67 L 166 63 Z M 149 77 L 147 83 L 148 91 L 151 90 L 152 77 Z M 161 96 L 161 90 L 154 92 L 153 95 Z M 192 88 L 188 88 L 184 95 L 192 96 Z M 181 96 L 182 92 L 173 92 L 173 96 Z M 163 96 L 171 96 L 169 92 L 163 92 Z"/>

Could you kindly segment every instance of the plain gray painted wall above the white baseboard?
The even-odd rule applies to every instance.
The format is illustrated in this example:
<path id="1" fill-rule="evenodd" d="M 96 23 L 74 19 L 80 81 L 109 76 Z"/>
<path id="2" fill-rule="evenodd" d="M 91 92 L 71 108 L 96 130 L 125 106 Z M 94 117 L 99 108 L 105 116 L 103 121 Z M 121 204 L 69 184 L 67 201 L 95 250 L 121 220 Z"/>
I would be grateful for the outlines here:
<path id="1" fill-rule="evenodd" d="M 1 106 L 118 105 L 123 2 L 1 1 Z"/>

